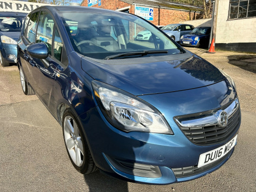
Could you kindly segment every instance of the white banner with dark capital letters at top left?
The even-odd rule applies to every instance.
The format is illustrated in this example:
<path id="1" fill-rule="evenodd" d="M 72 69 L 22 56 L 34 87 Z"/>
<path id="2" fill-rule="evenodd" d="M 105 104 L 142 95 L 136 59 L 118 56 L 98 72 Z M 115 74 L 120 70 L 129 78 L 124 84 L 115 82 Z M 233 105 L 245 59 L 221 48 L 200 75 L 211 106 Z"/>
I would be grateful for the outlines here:
<path id="1" fill-rule="evenodd" d="M 31 2 L 22 2 L 22 1 L 0 1 L 0 11 L 14 11 L 14 12 L 23 12 L 29 13 L 34 9 L 45 6 L 49 4 L 39 4 Z"/>

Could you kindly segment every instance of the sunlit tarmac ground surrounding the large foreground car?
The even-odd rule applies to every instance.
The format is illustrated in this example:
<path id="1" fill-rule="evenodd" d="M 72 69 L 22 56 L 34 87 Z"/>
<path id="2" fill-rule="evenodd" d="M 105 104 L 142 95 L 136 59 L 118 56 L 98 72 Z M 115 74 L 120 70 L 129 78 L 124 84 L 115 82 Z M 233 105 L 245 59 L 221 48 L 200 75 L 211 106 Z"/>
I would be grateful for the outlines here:
<path id="1" fill-rule="evenodd" d="M 62 129 L 37 96 L 26 96 L 17 66 L 0 66 L 0 191 L 256 191 L 256 54 L 187 48 L 229 74 L 237 86 L 242 123 L 231 158 L 196 180 L 170 185 L 78 173 Z"/>

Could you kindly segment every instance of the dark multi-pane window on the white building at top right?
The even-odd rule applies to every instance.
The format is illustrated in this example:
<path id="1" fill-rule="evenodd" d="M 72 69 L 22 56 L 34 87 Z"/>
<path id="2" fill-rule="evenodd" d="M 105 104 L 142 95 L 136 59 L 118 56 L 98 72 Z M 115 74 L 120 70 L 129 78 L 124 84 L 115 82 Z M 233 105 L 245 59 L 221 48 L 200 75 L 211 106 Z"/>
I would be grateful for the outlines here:
<path id="1" fill-rule="evenodd" d="M 256 17 L 256 0 L 230 0 L 229 19 Z"/>

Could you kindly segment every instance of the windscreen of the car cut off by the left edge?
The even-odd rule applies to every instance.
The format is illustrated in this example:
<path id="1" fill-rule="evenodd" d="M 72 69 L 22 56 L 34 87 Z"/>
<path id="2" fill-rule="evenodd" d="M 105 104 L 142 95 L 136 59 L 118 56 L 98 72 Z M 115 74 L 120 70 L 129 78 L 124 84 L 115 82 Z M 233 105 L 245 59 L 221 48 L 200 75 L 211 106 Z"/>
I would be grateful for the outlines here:
<path id="1" fill-rule="evenodd" d="M 0 16 L 0 31 L 21 31 L 25 17 Z"/>

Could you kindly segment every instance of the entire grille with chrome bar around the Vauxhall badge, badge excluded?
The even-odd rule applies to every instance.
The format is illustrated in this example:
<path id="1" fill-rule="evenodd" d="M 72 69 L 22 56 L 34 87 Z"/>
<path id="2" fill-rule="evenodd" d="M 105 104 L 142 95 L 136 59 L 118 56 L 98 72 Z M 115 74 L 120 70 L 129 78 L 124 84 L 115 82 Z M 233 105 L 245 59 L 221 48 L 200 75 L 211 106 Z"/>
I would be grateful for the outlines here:
<path id="1" fill-rule="evenodd" d="M 227 124 L 221 126 L 216 113 L 225 111 L 228 116 Z M 239 129 L 241 114 L 238 99 L 221 109 L 205 113 L 184 115 L 174 118 L 184 135 L 197 145 L 217 144 L 233 135 Z M 203 121 L 203 122 L 202 122 Z M 190 124 L 189 124 L 190 123 Z"/>

